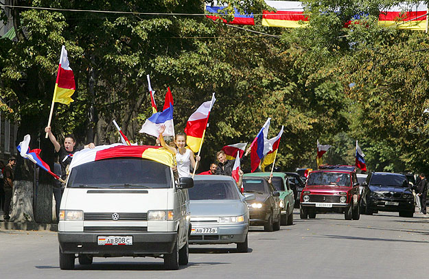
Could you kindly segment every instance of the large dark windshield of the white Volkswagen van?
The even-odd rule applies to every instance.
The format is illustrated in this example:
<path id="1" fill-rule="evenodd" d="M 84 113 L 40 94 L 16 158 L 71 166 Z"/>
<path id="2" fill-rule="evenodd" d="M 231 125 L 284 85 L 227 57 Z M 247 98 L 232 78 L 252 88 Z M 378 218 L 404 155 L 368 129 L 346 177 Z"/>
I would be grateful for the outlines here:
<path id="1" fill-rule="evenodd" d="M 71 169 L 69 188 L 171 188 L 170 167 L 140 158 L 112 158 Z"/>

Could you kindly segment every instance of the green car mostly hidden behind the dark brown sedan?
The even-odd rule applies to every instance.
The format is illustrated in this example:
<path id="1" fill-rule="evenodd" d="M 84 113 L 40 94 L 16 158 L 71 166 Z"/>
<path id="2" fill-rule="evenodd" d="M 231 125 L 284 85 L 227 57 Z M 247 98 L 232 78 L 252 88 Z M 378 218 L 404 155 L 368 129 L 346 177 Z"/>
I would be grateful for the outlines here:
<path id="1" fill-rule="evenodd" d="M 244 178 L 270 178 L 270 173 L 246 173 Z M 286 173 L 273 173 L 271 180 L 275 191 L 279 192 L 279 206 L 281 208 L 281 225 L 290 226 L 294 222 L 294 194 L 290 187 Z"/>

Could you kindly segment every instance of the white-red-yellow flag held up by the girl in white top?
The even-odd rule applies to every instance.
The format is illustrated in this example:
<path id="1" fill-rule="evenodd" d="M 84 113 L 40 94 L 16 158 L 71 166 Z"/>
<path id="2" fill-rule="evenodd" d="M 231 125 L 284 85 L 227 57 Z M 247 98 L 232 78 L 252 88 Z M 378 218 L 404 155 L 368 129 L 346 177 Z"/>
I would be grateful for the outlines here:
<path id="1" fill-rule="evenodd" d="M 216 98 L 213 93 L 211 100 L 202 103 L 196 112 L 187 119 L 185 128 L 186 144 L 194 153 L 200 150 L 207 123 L 209 122 L 210 111 L 215 101 Z"/>

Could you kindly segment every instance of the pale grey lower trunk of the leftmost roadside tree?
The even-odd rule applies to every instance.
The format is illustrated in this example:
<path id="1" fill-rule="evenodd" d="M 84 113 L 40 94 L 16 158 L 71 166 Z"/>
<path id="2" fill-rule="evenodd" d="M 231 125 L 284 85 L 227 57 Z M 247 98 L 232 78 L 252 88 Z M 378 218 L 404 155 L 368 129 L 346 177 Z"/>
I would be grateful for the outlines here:
<path id="1" fill-rule="evenodd" d="M 33 216 L 33 183 L 30 181 L 14 181 L 13 206 L 10 221 L 34 222 Z"/>

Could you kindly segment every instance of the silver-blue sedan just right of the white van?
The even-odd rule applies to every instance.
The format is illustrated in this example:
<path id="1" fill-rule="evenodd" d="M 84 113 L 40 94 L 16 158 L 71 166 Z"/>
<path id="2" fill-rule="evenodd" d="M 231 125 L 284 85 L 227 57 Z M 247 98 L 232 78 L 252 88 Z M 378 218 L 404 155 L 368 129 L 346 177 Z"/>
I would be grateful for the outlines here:
<path id="1" fill-rule="evenodd" d="M 237 251 L 248 250 L 249 215 L 246 200 L 235 180 L 227 175 L 196 175 L 189 189 L 191 207 L 190 244 L 237 243 Z"/>

